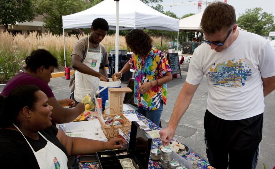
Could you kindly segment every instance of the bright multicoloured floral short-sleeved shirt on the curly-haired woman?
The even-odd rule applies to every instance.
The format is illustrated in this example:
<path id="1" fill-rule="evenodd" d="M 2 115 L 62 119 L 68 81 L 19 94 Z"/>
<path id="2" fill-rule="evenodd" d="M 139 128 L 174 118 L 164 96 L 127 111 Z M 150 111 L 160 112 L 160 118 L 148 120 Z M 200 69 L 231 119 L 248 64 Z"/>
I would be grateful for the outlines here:
<path id="1" fill-rule="evenodd" d="M 146 58 L 133 53 L 129 60 L 130 66 L 135 70 L 134 102 L 146 110 L 155 110 L 160 107 L 161 100 L 166 104 L 167 83 L 153 86 L 146 93 L 137 90 L 144 83 L 160 79 L 166 72 L 172 71 L 163 52 L 152 48 Z"/>

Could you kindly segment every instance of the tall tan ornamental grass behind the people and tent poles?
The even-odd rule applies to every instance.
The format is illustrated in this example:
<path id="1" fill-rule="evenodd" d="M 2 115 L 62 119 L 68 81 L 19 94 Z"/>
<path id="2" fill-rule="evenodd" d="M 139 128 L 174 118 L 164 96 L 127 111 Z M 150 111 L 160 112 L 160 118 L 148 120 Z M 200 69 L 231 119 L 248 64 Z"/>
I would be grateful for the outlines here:
<path id="1" fill-rule="evenodd" d="M 88 34 L 65 36 L 66 66 L 71 67 L 71 53 L 73 45 L 78 39 L 87 37 Z M 160 49 L 161 37 L 152 37 L 155 48 Z M 24 70 L 25 58 L 36 49 L 46 49 L 58 60 L 60 66 L 65 66 L 63 35 L 53 35 L 51 33 L 39 34 L 31 32 L 28 35 L 12 35 L 7 31 L 0 31 L 0 81 L 10 80 Z M 115 49 L 115 35 L 107 35 L 101 42 L 107 52 Z M 118 37 L 120 50 L 128 50 L 124 36 Z M 162 50 L 167 50 L 167 41 L 163 41 Z"/>

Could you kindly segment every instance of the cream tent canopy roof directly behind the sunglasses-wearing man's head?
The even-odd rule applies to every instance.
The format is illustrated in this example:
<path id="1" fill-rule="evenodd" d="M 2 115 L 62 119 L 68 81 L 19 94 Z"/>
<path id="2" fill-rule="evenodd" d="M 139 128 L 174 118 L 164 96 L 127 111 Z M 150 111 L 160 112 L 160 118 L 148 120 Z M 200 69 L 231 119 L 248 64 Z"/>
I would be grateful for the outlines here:
<path id="1" fill-rule="evenodd" d="M 203 12 L 179 20 L 179 30 L 202 31 L 200 28 Z"/>

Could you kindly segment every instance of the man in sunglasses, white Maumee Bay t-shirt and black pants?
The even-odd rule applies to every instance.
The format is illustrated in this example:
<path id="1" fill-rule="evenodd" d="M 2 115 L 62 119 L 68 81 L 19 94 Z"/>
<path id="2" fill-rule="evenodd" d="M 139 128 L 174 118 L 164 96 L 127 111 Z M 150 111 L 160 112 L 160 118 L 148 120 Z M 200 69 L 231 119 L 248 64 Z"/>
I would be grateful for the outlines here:
<path id="1" fill-rule="evenodd" d="M 236 164 L 251 169 L 262 139 L 263 98 L 275 89 L 275 52 L 261 36 L 238 31 L 234 7 L 223 2 L 205 9 L 201 28 L 206 40 L 193 53 L 170 121 L 160 132 L 162 142 L 173 138 L 205 75 L 208 161 L 217 169 Z"/>

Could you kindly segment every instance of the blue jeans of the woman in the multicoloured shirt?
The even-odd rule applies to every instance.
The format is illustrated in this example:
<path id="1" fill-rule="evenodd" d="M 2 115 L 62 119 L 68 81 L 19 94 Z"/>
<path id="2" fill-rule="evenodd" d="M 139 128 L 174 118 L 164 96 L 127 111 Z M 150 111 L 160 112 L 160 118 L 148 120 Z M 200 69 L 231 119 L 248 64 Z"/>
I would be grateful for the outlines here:
<path id="1" fill-rule="evenodd" d="M 163 111 L 163 101 L 161 101 L 160 107 L 156 110 L 145 110 L 143 109 L 143 107 L 138 106 L 138 113 L 141 113 L 143 116 L 151 120 L 157 126 L 159 126 L 162 111 Z"/>

